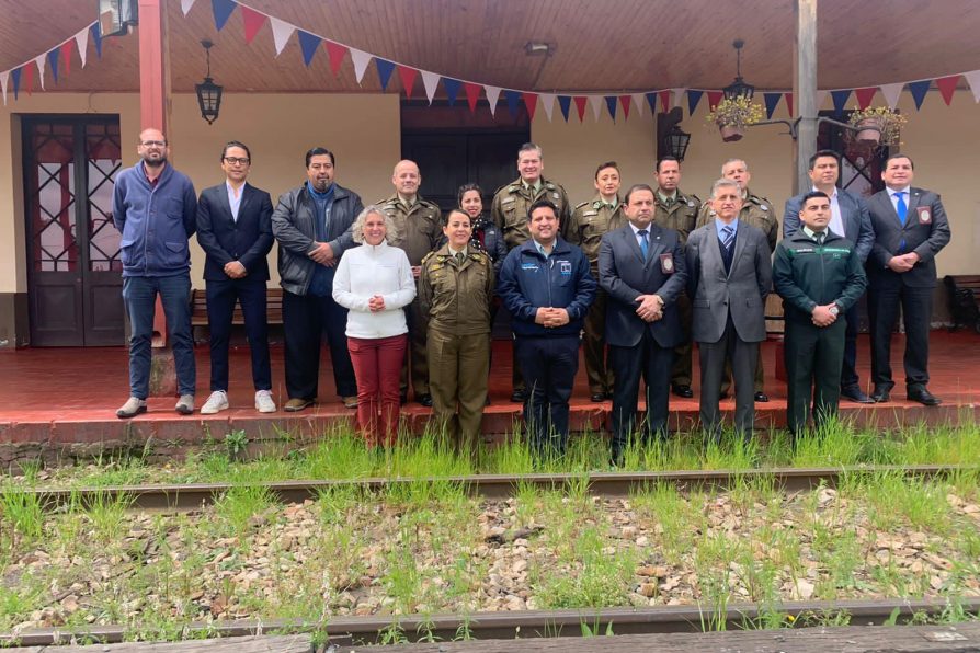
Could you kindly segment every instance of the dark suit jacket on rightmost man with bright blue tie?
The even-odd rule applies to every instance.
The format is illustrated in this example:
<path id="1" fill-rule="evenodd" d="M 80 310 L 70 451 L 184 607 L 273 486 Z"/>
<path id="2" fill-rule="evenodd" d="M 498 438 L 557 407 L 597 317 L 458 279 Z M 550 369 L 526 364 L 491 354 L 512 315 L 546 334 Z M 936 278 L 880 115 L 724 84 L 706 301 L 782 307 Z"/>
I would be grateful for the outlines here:
<path id="1" fill-rule="evenodd" d="M 904 227 L 891 204 L 888 191 L 868 199 L 875 244 L 868 257 L 868 286 L 919 288 L 936 286 L 936 254 L 949 242 L 949 221 L 939 196 L 923 188 L 909 188 L 909 213 Z M 904 273 L 892 272 L 888 261 L 897 254 L 919 254 L 919 263 Z"/>

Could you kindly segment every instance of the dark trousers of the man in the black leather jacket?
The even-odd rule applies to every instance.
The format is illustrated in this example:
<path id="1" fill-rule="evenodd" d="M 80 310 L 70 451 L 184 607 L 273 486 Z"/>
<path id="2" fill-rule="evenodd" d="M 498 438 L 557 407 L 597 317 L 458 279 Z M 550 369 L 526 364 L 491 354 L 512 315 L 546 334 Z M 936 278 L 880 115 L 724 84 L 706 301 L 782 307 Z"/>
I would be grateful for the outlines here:
<path id="1" fill-rule="evenodd" d="M 347 352 L 347 309 L 332 297 L 283 293 L 283 330 L 286 340 L 286 392 L 289 399 L 316 399 L 320 380 L 320 340 L 326 333 L 333 365 L 333 381 L 341 397 L 357 394 L 354 367 Z"/>

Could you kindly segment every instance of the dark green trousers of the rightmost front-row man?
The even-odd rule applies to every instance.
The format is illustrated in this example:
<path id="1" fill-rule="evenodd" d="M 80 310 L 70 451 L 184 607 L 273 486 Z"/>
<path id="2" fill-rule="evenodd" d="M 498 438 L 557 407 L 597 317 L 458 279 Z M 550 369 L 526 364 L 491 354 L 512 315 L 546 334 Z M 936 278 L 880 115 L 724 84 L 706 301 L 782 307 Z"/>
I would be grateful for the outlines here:
<path id="1" fill-rule="evenodd" d="M 786 320 L 786 425 L 791 434 L 806 428 L 811 398 L 814 427 L 837 414 L 846 328 L 846 318 L 823 328 Z"/>

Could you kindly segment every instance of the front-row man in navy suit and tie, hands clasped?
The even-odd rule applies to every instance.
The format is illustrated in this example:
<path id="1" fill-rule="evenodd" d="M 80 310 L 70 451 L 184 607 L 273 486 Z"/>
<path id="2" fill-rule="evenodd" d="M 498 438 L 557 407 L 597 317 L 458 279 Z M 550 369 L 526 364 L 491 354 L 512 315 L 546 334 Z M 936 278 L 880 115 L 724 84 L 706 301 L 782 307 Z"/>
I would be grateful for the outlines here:
<path id="1" fill-rule="evenodd" d="M 676 300 L 687 282 L 677 232 L 653 224 L 653 188 L 638 184 L 626 193 L 629 224 L 602 237 L 599 283 L 609 296 L 606 341 L 613 389 L 611 462 L 623 462 L 634 432 L 640 375 L 647 386 L 645 437 L 666 436 L 668 400 L 674 350 L 684 340 Z"/>

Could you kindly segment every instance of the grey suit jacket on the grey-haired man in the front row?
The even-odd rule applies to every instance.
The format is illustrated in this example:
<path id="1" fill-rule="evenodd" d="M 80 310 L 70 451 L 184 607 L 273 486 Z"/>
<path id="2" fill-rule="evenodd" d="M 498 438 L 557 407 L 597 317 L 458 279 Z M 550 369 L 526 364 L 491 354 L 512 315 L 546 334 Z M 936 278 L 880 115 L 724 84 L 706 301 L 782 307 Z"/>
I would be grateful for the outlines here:
<path id="1" fill-rule="evenodd" d="M 715 221 L 687 238 L 687 293 L 692 299 L 692 337 L 715 343 L 725 335 L 728 316 L 743 342 L 765 340 L 765 298 L 773 264 L 765 233 L 739 221 L 731 267 L 725 271 Z"/>

